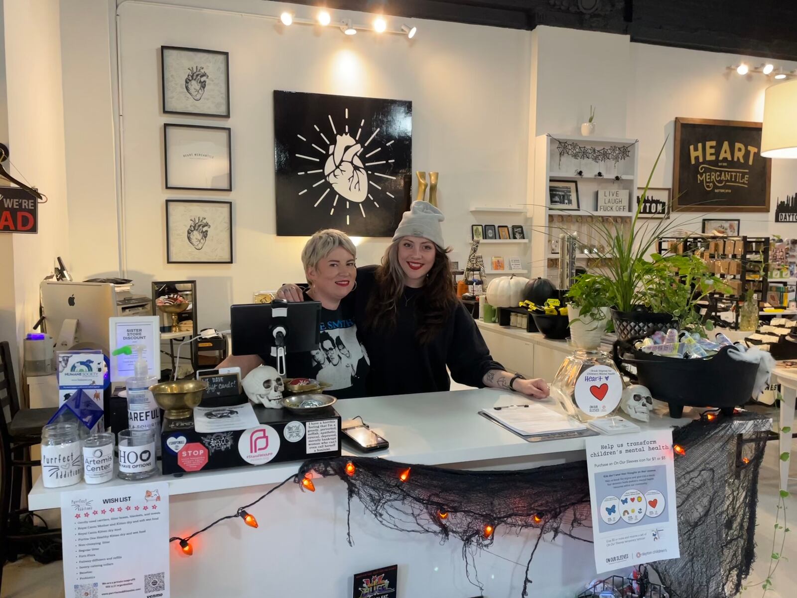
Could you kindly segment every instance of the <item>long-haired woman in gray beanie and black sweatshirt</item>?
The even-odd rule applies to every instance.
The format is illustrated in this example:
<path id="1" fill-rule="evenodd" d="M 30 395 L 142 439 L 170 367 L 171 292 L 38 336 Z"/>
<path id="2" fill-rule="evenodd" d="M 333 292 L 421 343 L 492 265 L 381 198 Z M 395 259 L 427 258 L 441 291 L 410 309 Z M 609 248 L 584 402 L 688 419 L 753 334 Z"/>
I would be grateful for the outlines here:
<path id="1" fill-rule="evenodd" d="M 544 380 L 506 372 L 453 289 L 450 249 L 427 202 L 404 212 L 381 266 L 357 269 L 355 321 L 371 358 L 367 394 L 402 395 L 447 391 L 453 380 L 473 387 L 506 388 L 537 398 L 548 396 Z M 301 301 L 296 285 L 280 297 Z"/>

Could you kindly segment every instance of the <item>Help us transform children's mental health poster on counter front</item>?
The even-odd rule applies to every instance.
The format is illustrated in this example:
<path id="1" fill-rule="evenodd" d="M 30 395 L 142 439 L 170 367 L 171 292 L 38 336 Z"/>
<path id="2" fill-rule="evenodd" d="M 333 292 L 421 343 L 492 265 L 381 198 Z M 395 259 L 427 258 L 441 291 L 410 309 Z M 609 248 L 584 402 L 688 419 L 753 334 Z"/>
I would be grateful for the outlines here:
<path id="1" fill-rule="evenodd" d="M 680 557 L 672 431 L 585 440 L 597 572 Z"/>

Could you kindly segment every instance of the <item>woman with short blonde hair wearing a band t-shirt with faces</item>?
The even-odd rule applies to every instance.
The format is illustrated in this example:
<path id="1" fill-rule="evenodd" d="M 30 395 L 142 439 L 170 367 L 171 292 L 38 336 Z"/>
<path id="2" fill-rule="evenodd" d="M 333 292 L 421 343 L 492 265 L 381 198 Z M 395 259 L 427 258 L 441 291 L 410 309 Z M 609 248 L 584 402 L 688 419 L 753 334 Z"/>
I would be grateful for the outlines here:
<path id="1" fill-rule="evenodd" d="M 335 229 L 319 230 L 304 245 L 301 262 L 308 288 L 302 289 L 304 301 L 319 301 L 321 325 L 319 347 L 306 354 L 291 355 L 289 378 L 316 378 L 330 384 L 324 392 L 338 399 L 365 395 L 369 361 L 357 339 L 354 296 L 357 248 L 345 233 Z M 263 356 L 230 356 L 219 368 L 238 366 L 241 376 L 262 365 Z"/>

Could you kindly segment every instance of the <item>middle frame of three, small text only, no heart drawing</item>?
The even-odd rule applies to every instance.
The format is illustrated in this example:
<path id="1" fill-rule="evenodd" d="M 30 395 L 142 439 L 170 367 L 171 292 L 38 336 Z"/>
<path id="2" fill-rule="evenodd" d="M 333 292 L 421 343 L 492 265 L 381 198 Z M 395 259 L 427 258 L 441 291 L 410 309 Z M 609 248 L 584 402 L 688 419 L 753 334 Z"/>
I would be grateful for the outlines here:
<path id="1" fill-rule="evenodd" d="M 163 124 L 167 189 L 232 191 L 232 130 L 201 124 Z"/>

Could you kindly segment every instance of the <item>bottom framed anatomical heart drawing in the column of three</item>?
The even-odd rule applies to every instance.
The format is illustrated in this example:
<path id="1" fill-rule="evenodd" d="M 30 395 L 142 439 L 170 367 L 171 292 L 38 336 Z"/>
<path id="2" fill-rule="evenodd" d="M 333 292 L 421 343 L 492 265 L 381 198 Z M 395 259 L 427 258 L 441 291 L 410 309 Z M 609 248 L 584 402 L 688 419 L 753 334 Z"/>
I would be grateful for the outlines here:
<path id="1" fill-rule="evenodd" d="M 166 200 L 168 264 L 232 264 L 233 203 Z"/>

